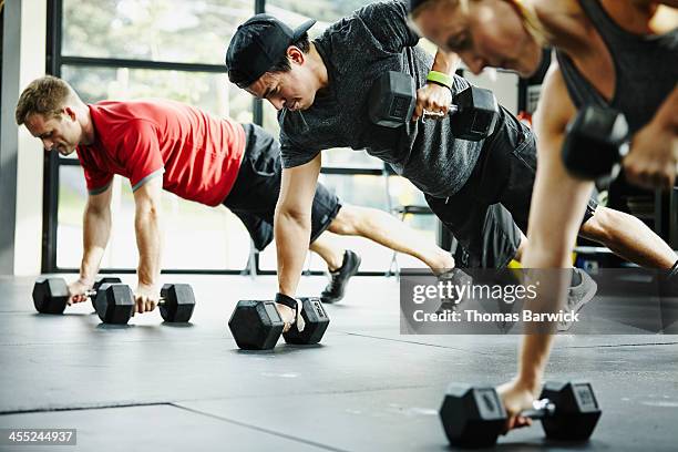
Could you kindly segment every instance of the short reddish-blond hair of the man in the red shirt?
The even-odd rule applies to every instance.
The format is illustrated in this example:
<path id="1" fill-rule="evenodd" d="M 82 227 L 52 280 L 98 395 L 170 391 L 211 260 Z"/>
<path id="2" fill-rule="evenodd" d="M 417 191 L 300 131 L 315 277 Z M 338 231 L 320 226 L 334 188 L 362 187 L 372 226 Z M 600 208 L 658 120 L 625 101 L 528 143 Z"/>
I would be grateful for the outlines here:
<path id="1" fill-rule="evenodd" d="M 45 119 L 59 116 L 61 109 L 73 96 L 76 97 L 76 94 L 71 85 L 59 78 L 45 75 L 33 80 L 17 102 L 17 125 L 22 125 L 32 114 L 41 114 Z"/>

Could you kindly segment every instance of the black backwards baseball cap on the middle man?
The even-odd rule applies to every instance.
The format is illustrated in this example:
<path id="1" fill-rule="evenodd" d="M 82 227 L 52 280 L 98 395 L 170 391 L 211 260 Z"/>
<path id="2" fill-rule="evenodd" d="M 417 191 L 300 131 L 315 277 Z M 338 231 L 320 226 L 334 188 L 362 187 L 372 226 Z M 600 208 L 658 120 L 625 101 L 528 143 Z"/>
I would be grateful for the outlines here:
<path id="1" fill-rule="evenodd" d="M 273 16 L 253 16 L 238 27 L 226 50 L 228 80 L 239 88 L 249 86 L 276 64 L 287 48 L 315 23 L 312 19 L 307 20 L 292 30 Z"/>

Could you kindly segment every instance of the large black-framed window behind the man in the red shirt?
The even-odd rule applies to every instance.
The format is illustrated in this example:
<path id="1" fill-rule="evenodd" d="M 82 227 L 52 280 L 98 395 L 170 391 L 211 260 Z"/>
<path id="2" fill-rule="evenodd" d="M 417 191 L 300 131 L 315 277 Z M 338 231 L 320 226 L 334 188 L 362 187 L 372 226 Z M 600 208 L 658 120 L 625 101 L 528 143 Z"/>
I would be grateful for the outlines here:
<path id="1" fill-rule="evenodd" d="M 251 97 L 232 85 L 223 65 L 233 31 L 255 13 L 249 0 L 59 0 L 52 35 L 62 37 L 52 72 L 83 101 L 164 97 L 217 116 L 253 121 Z M 60 20 L 61 19 L 61 20 Z M 52 157 L 54 158 L 54 157 Z M 47 270 L 80 267 L 86 189 L 73 154 L 58 157 L 48 196 L 56 222 Z M 115 177 L 111 239 L 102 268 L 134 269 L 137 250 L 130 183 Z M 249 256 L 240 220 L 225 207 L 210 208 L 163 195 L 164 269 L 239 271 Z M 195 234 L 201 230 L 201 234 Z"/>

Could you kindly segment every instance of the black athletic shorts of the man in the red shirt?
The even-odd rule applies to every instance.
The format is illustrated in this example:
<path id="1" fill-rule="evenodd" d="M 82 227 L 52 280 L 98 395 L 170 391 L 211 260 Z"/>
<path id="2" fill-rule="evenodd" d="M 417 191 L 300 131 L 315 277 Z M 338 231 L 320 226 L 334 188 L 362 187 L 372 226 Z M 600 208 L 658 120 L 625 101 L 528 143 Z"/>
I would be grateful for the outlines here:
<path id="1" fill-rule="evenodd" d="M 224 199 L 245 225 L 258 250 L 274 238 L 274 214 L 280 193 L 280 147 L 276 138 L 255 124 L 245 129 L 245 154 L 233 189 Z M 341 208 L 339 198 L 322 184 L 316 187 L 311 209 L 311 238 L 315 242 Z"/>

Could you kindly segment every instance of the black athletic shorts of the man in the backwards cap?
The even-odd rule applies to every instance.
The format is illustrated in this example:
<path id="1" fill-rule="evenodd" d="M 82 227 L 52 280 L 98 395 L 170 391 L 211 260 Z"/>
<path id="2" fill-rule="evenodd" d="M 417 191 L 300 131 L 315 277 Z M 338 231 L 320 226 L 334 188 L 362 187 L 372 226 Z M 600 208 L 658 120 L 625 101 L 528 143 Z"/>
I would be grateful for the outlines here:
<path id="1" fill-rule="evenodd" d="M 536 142 L 526 126 L 521 124 L 516 131 L 516 125 L 506 124 L 484 146 L 462 189 L 449 198 L 425 196 L 461 245 L 455 255 L 460 267 L 504 268 L 518 249 L 521 230 L 527 233 Z M 582 224 L 596 210 L 595 196 L 588 201 Z"/>

